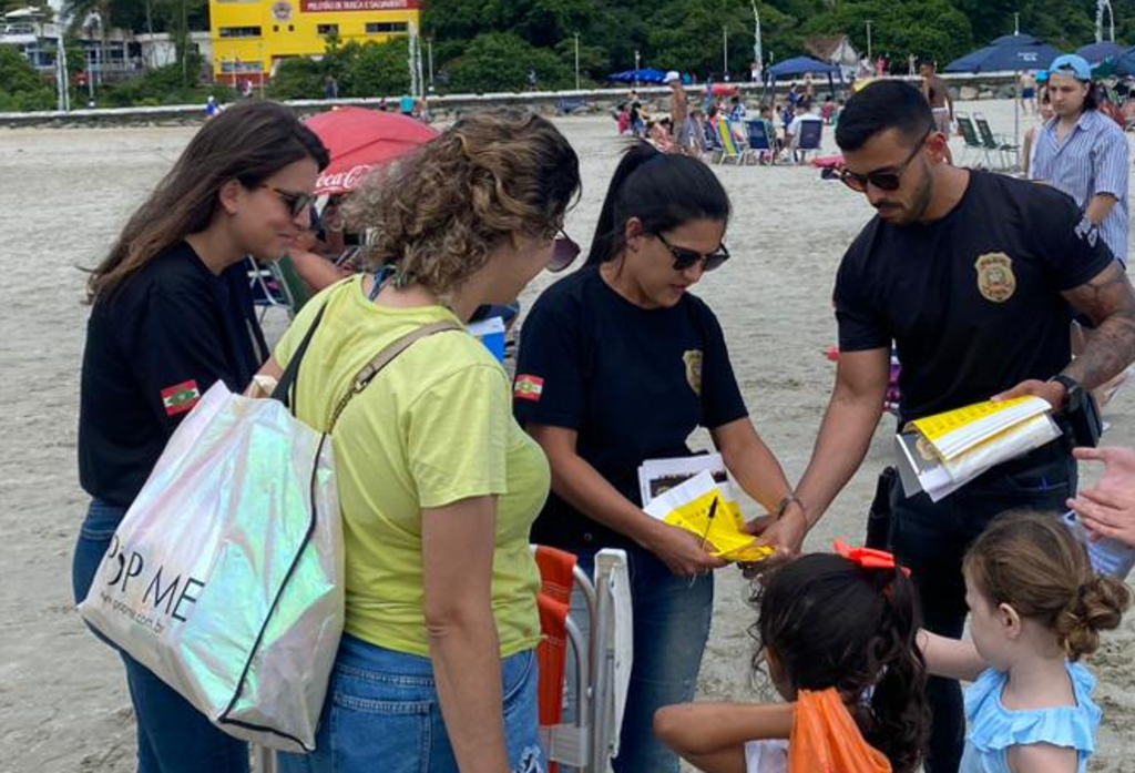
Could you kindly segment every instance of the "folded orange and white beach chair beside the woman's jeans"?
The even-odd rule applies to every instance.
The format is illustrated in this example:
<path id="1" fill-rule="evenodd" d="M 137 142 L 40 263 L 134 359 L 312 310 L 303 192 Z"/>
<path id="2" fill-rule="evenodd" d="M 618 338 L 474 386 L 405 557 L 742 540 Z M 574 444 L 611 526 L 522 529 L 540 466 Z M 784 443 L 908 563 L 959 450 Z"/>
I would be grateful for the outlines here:
<path id="1" fill-rule="evenodd" d="M 549 770 L 565 765 L 581 773 L 606 773 L 619 753 L 633 658 L 627 554 L 600 551 L 595 556 L 595 577 L 588 578 L 571 553 L 543 545 L 532 549 L 541 578 L 537 599 L 544 633 L 538 650 L 540 736 Z M 587 633 L 569 616 L 574 588 L 587 604 Z M 569 657 L 575 666 L 572 683 L 565 683 Z M 568 692 L 575 711 L 564 722 Z"/>

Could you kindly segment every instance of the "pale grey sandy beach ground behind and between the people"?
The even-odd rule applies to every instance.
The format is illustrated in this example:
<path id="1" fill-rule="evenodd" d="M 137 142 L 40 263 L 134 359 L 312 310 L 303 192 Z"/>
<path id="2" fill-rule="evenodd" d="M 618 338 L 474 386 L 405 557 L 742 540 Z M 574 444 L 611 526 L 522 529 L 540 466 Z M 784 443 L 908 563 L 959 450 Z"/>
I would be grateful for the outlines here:
<path id="1" fill-rule="evenodd" d="M 1011 102 L 959 109 L 985 112 L 1014 133 Z M 1031 118 L 1022 119 L 1023 129 Z M 621 148 L 607 117 L 560 126 L 579 151 L 583 195 L 566 230 L 587 244 Z M 0 523 L 0 773 L 126 773 L 135 770 L 134 725 L 117 656 L 74 611 L 70 556 L 86 506 L 77 481 L 79 366 L 87 308 L 78 267 L 98 262 L 133 207 L 192 136 L 188 127 L 0 129 L 0 370 L 5 373 Z M 825 142 L 833 146 L 831 131 Z M 955 140 L 960 156 L 960 140 Z M 872 215 L 863 196 L 824 182 L 810 167 L 721 167 L 734 205 L 728 244 L 734 259 L 695 288 L 716 311 L 758 431 L 794 481 L 804 471 L 827 402 L 835 342 L 831 291 L 839 260 Z M 550 282 L 522 299 L 530 305 Z M 274 312 L 268 329 L 286 324 Z M 991 331 L 991 335 L 994 335 Z M 1109 445 L 1135 443 L 1135 387 L 1108 411 Z M 880 425 L 859 473 L 812 532 L 861 541 L 877 472 L 890 461 L 893 422 Z M 695 442 L 708 444 L 699 434 Z M 1085 480 L 1095 471 L 1084 469 Z M 747 512 L 756 513 L 751 502 Z M 718 573 L 714 629 L 700 697 L 755 699 L 748 673 L 754 613 L 747 583 Z M 1135 771 L 1135 613 L 1090 659 L 1104 711 L 1092 771 Z"/>

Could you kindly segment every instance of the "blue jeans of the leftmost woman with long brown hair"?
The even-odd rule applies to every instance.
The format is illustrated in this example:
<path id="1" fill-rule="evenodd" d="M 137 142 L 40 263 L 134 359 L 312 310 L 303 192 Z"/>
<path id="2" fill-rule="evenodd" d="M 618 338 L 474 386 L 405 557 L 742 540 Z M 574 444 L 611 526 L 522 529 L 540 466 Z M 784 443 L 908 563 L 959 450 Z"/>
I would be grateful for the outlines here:
<path id="1" fill-rule="evenodd" d="M 125 507 L 101 499 L 91 502 L 72 562 L 76 604 L 86 598 L 125 514 Z M 126 653 L 118 650 L 118 654 L 126 666 L 126 683 L 134 704 L 138 773 L 247 773 L 249 747 L 244 741 L 222 733 L 152 671 Z"/>

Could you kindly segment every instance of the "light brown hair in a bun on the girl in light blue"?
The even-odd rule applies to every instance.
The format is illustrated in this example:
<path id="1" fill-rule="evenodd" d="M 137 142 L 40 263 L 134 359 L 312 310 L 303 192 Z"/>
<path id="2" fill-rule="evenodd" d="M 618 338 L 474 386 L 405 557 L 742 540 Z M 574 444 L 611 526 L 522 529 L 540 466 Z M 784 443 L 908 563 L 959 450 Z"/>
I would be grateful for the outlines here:
<path id="1" fill-rule="evenodd" d="M 1058 516 L 998 515 L 970 546 L 964 563 L 970 580 L 993 603 L 1053 631 L 1068 659 L 1100 646 L 1100 631 L 1117 628 L 1130 591 L 1096 574 L 1084 546 Z"/>

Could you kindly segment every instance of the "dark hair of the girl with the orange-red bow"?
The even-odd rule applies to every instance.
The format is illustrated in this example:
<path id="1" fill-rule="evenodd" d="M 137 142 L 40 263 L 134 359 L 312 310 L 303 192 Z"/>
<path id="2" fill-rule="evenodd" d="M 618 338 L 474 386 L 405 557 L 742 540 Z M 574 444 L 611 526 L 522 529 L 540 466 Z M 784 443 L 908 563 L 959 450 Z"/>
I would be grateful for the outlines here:
<path id="1" fill-rule="evenodd" d="M 749 633 L 775 653 L 793 690 L 835 688 L 864 739 L 896 773 L 922 764 L 930 731 L 926 666 L 915 641 L 914 585 L 899 569 L 865 569 L 814 553 L 773 570 L 755 586 Z"/>

